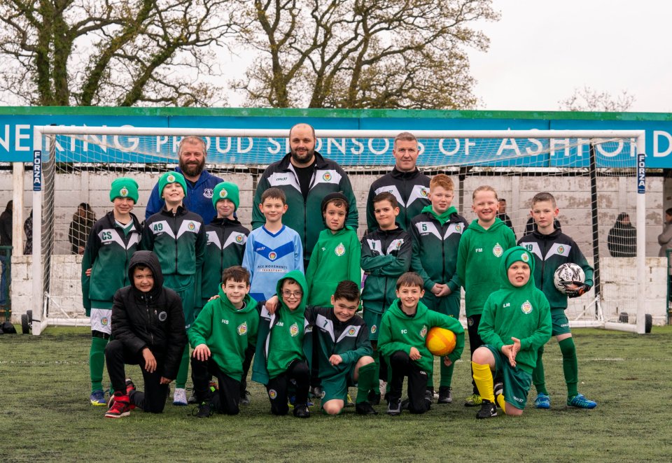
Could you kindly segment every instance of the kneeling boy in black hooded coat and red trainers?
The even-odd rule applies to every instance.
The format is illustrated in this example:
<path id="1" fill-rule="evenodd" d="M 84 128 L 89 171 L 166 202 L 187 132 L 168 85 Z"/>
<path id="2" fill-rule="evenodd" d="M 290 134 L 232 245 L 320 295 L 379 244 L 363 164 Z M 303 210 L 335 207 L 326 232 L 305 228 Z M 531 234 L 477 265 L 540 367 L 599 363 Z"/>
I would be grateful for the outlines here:
<path id="1" fill-rule="evenodd" d="M 182 301 L 176 292 L 163 287 L 163 273 L 154 252 L 135 252 L 128 276 L 131 285 L 114 294 L 114 339 L 105 348 L 115 390 L 106 418 L 128 416 L 136 406 L 161 413 L 187 344 Z M 125 364 L 140 365 L 145 392 L 136 390 L 132 380 L 125 380 Z"/>

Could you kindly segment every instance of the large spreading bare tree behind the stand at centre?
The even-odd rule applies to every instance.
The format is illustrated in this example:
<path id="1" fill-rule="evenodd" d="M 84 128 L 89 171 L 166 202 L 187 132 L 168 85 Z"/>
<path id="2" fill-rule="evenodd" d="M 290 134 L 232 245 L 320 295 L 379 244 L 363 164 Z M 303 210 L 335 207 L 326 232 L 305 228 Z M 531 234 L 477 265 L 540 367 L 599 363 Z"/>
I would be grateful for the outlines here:
<path id="1" fill-rule="evenodd" d="M 465 48 L 486 50 L 490 0 L 253 0 L 241 43 L 260 54 L 235 87 L 249 106 L 471 108 Z"/>

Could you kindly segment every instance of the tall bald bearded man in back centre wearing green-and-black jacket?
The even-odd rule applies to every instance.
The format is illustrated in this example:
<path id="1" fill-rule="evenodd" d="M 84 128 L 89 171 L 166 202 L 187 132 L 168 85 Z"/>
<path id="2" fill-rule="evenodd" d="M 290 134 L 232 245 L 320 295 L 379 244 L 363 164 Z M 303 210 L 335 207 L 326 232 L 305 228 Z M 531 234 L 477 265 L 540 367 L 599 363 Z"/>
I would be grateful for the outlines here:
<path id="1" fill-rule="evenodd" d="M 345 225 L 357 229 L 359 218 L 350 179 L 341 166 L 315 151 L 315 142 L 315 129 L 310 125 L 296 124 L 290 129 L 290 152 L 266 168 L 252 206 L 252 228 L 261 227 L 266 221 L 259 210 L 263 192 L 270 187 L 285 192 L 289 208 L 282 223 L 301 236 L 306 267 L 318 235 L 325 228 L 321 204 L 327 194 L 342 192 L 348 199 Z"/>

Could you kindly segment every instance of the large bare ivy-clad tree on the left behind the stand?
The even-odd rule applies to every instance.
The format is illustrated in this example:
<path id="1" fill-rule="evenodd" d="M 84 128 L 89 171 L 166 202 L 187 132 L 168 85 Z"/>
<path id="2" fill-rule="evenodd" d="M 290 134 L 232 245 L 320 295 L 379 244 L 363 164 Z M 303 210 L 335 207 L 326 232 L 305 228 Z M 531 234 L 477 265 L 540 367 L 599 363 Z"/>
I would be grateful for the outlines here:
<path id="1" fill-rule="evenodd" d="M 227 0 L 0 0 L 0 90 L 25 104 L 207 104 Z"/>

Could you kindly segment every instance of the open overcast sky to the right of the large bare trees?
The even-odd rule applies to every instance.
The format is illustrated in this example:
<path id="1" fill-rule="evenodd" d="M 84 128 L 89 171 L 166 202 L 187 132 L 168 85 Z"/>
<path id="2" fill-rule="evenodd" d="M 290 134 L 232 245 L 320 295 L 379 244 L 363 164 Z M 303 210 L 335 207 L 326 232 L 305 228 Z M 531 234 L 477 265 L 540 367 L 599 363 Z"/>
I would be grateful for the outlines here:
<path id="1" fill-rule="evenodd" d="M 487 52 L 470 52 L 479 109 L 554 111 L 575 87 L 636 97 L 629 111 L 672 113 L 672 2 L 493 0 Z"/>

